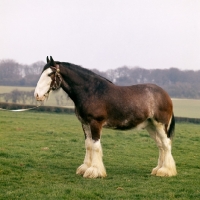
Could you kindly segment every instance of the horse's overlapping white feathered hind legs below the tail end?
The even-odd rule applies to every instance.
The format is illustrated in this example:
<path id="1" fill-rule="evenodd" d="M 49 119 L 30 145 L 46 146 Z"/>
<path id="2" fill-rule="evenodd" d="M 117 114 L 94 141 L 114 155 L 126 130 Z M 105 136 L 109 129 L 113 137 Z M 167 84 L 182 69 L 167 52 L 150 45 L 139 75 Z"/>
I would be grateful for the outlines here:
<path id="1" fill-rule="evenodd" d="M 176 165 L 171 154 L 171 139 L 167 137 L 164 126 L 154 122 L 147 128 L 151 137 L 156 141 L 159 149 L 158 165 L 153 168 L 151 174 L 156 176 L 175 176 Z"/>

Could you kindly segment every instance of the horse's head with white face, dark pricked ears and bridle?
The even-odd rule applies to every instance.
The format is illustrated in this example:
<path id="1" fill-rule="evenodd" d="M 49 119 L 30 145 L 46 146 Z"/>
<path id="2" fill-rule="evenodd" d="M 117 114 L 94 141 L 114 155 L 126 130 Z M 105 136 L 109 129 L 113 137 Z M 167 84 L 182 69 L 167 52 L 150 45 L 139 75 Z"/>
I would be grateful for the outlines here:
<path id="1" fill-rule="evenodd" d="M 59 64 L 47 56 L 47 64 L 44 66 L 40 79 L 35 88 L 34 96 L 37 101 L 44 101 L 51 90 L 60 88 L 62 77 L 60 75 Z"/>

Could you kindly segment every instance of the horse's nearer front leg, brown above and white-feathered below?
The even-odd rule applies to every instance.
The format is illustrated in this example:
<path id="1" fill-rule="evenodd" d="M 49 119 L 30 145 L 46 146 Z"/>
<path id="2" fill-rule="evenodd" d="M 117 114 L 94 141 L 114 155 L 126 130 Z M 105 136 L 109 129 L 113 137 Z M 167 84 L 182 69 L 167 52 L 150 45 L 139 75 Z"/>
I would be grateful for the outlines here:
<path id="1" fill-rule="evenodd" d="M 86 156 L 83 164 L 85 168 L 88 168 L 84 174 L 82 173 L 85 178 L 106 176 L 106 170 L 102 161 L 103 153 L 100 142 L 101 128 L 101 124 L 96 121 L 90 123 L 91 137 L 86 138 Z"/>

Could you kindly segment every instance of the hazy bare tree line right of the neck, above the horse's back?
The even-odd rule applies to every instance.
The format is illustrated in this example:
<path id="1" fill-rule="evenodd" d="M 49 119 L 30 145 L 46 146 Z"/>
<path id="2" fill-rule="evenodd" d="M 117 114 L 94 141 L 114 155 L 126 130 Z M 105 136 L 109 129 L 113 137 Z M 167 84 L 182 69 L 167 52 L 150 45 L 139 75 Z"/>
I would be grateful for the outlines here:
<path id="1" fill-rule="evenodd" d="M 116 85 L 134 85 L 141 83 L 154 83 L 164 88 L 174 98 L 200 98 L 200 70 L 170 69 L 143 69 L 123 66 L 114 70 L 97 74 L 106 77 Z"/>

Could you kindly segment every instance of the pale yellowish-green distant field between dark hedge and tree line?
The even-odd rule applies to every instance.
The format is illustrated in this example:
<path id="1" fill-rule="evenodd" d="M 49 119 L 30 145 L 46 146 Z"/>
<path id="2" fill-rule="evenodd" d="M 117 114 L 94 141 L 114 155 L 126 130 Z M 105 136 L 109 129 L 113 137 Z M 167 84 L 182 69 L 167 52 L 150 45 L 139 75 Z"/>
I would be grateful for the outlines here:
<path id="1" fill-rule="evenodd" d="M 34 87 L 11 87 L 11 86 L 0 86 L 0 94 L 1 93 L 9 93 L 14 89 L 18 89 L 20 91 L 32 91 Z M 73 102 L 71 100 L 66 100 L 66 94 L 60 90 L 55 93 L 51 93 L 48 101 L 44 103 L 46 106 L 57 106 L 56 96 L 64 97 L 64 104 L 66 106 L 73 106 Z M 3 102 L 3 98 L 0 97 L 0 102 Z M 190 117 L 190 118 L 200 118 L 200 100 L 194 99 L 172 99 L 174 104 L 174 114 L 177 117 Z"/>

